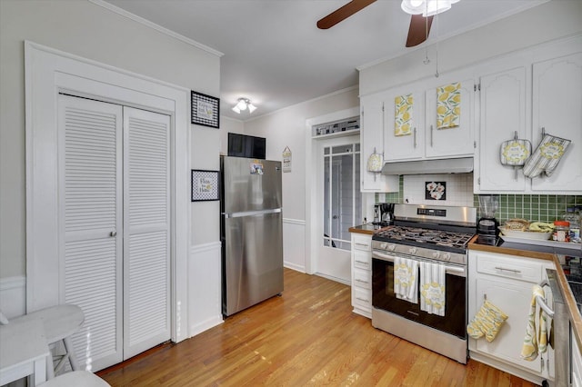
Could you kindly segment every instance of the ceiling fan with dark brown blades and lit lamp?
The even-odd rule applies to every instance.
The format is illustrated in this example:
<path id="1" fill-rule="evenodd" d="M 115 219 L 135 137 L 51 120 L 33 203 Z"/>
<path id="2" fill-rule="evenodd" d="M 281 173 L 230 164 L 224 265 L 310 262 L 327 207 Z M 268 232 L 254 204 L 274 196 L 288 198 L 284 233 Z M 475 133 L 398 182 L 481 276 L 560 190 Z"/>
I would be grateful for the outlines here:
<path id="1" fill-rule="evenodd" d="M 457 3 L 459 0 L 440 0 L 441 5 L 438 2 L 434 2 L 437 8 L 431 9 L 431 3 L 418 0 L 407 0 L 403 3 L 402 8 L 406 13 L 411 14 L 410 26 L 408 27 L 408 36 L 406 38 L 406 47 L 414 47 L 415 45 L 420 45 L 428 38 L 430 33 L 430 26 L 433 23 L 433 15 L 437 13 L 444 12 L 450 9 L 451 4 Z M 317 27 L 320 29 L 327 29 L 333 27 L 337 23 L 345 20 L 347 17 L 356 14 L 356 12 L 366 8 L 366 6 L 371 5 L 376 2 L 376 0 L 351 0 L 346 5 L 336 9 L 326 17 L 317 21 Z"/>

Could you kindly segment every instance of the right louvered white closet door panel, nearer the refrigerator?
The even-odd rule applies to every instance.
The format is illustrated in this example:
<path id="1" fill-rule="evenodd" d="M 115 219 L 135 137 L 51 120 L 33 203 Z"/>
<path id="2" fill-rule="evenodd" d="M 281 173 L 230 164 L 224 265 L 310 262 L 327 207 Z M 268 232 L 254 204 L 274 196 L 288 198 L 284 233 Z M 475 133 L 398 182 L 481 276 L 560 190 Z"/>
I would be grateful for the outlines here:
<path id="1" fill-rule="evenodd" d="M 124 108 L 124 359 L 170 339 L 169 127 Z"/>

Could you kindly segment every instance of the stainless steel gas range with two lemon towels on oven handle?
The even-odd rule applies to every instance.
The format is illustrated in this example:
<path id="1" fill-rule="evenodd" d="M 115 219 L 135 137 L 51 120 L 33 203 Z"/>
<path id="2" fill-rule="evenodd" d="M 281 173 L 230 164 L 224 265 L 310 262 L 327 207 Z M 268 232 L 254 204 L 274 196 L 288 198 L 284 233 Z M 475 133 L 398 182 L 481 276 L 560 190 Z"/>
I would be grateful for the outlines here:
<path id="1" fill-rule="evenodd" d="M 396 204 L 394 218 L 394 226 L 372 237 L 372 325 L 466 364 L 467 244 L 477 209 Z M 396 292 L 395 262 L 414 268 L 416 288 L 408 299 Z M 439 303 L 437 313 L 426 307 L 429 294 L 417 281 L 423 270 L 444 272 L 437 288 L 444 307 Z M 430 274 L 424 275 L 426 281 Z"/>

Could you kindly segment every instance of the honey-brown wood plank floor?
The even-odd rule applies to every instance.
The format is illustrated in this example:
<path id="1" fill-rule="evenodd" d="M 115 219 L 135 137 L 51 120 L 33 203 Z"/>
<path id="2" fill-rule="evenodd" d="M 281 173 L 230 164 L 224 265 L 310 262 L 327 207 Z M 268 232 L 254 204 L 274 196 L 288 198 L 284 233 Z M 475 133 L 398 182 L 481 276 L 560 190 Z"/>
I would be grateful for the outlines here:
<path id="1" fill-rule="evenodd" d="M 350 287 L 285 269 L 285 291 L 97 374 L 112 386 L 534 386 L 460 364 L 352 313 Z"/>

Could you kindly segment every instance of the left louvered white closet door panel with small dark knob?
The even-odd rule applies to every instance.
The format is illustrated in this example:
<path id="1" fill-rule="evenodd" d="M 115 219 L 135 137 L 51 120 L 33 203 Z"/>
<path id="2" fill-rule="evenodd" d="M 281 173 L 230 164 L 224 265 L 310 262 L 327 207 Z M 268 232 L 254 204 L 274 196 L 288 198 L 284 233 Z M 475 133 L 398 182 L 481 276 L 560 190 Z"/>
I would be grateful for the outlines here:
<path id="1" fill-rule="evenodd" d="M 91 370 L 123 360 L 122 124 L 121 106 L 59 97 L 60 286 L 85 313 L 73 341 Z"/>

